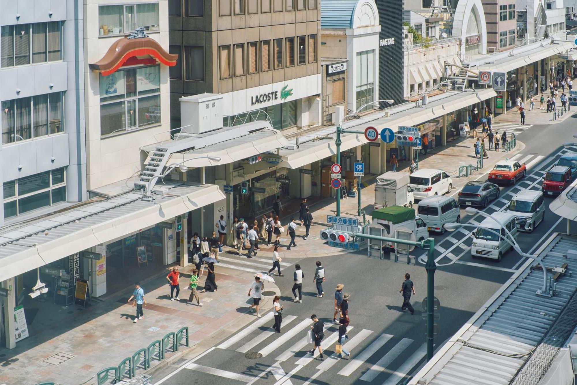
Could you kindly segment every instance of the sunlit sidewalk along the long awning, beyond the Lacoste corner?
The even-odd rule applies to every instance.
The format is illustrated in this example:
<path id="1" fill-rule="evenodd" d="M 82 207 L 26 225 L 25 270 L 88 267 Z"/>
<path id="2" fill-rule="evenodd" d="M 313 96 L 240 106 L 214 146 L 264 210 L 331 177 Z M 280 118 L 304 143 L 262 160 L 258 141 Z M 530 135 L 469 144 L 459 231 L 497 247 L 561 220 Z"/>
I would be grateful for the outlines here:
<path id="1" fill-rule="evenodd" d="M 524 149 L 524 145 L 521 142 L 517 142 L 517 147 L 505 153 L 504 151 L 494 151 L 488 150 L 487 154 L 489 159 L 484 160 L 484 168 L 474 172 L 469 177 L 458 177 L 459 166 L 473 164 L 477 165 L 477 159 L 475 158 L 475 149 L 473 143 L 475 139 L 473 136 L 459 137 L 453 142 L 448 143 L 447 146 L 438 147 L 437 149 L 429 150 L 428 154 L 425 156 L 423 154 L 419 155 L 419 168 L 436 168 L 442 169 L 447 172 L 453 181 L 453 193 L 456 190 L 462 188 L 470 180 L 477 180 L 479 178 L 484 179 L 485 174 L 489 172 L 490 169 L 496 164 L 497 161 L 509 158 L 518 154 Z M 409 172 L 410 162 L 399 162 L 399 171 Z M 361 210 L 365 212 L 366 220 L 370 221 L 370 214 L 373 212 L 374 206 L 374 177 L 368 180 L 366 187 L 361 189 Z M 413 205 L 416 209 L 417 206 Z M 297 227 L 297 237 L 295 241 L 297 246 L 293 246 L 291 250 L 287 250 L 288 242 L 290 242 L 290 237 L 286 235 L 287 224 L 289 223 L 291 217 L 294 217 L 295 222 L 300 224 L 298 220 L 298 211 L 291 213 L 289 215 L 283 216 L 280 220 L 284 227 L 284 233 L 280 237 L 280 247 L 279 256 L 282 258 L 318 258 L 324 256 L 332 256 L 336 254 L 342 254 L 347 252 L 352 252 L 353 250 L 339 249 L 337 247 L 328 246 L 327 242 L 320 239 L 321 229 L 327 228 L 327 215 L 336 215 L 336 204 L 334 198 L 324 198 L 319 201 L 315 201 L 309 204 L 310 213 L 313 216 L 313 225 L 310 227 L 310 234 L 307 240 L 304 240 L 305 227 Z M 362 215 L 358 215 L 358 199 L 357 198 L 344 198 L 340 203 L 340 215 L 344 217 L 354 217 L 362 222 Z M 275 235 L 272 236 L 272 242 L 275 240 Z M 247 241 L 248 245 L 248 241 Z M 267 246 L 263 243 L 261 239 L 259 242 L 260 250 L 258 251 L 258 257 L 271 258 L 272 267 L 272 251 L 274 247 Z M 248 250 L 242 250 L 240 258 L 246 258 Z M 223 247 L 223 254 L 230 257 L 231 254 L 235 256 L 237 254 L 233 247 L 225 246 Z"/>

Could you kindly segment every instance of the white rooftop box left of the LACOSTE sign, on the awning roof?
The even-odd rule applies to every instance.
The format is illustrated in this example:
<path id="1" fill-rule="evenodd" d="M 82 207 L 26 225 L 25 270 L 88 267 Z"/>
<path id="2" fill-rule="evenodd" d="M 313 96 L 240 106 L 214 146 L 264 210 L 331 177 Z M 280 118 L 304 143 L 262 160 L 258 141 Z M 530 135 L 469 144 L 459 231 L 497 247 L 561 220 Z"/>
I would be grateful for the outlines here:
<path id="1" fill-rule="evenodd" d="M 203 134 L 222 128 L 222 95 L 192 95 L 180 102 L 182 132 Z"/>

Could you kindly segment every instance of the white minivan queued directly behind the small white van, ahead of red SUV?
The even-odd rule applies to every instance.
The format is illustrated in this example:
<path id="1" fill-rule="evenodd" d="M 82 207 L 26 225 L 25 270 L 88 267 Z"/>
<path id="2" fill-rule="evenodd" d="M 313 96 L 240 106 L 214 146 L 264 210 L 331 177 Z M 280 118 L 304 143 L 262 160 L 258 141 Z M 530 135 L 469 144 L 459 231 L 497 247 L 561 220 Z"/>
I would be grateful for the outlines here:
<path id="1" fill-rule="evenodd" d="M 545 219 L 542 191 L 522 190 L 511 199 L 507 212 L 515 216 L 520 231 L 533 231 Z"/>

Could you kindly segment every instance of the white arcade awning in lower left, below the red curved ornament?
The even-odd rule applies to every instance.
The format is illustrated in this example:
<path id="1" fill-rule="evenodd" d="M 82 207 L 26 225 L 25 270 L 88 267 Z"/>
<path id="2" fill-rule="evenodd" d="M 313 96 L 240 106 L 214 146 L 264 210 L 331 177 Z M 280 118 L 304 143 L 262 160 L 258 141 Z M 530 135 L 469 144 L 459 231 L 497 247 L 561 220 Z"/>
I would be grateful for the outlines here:
<path id="1" fill-rule="evenodd" d="M 225 198 L 211 184 L 157 185 L 155 191 L 152 202 L 127 193 L 12 227 L 0 234 L 0 281 Z"/>

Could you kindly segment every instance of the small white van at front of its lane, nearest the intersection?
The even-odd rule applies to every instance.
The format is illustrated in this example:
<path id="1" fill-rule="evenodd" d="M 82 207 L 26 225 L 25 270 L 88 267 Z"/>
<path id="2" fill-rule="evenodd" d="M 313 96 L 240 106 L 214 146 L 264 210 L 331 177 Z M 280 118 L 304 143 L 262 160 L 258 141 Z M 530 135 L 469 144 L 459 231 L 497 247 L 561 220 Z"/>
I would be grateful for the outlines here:
<path id="1" fill-rule="evenodd" d="M 512 242 L 512 239 L 497 221 L 505 225 L 513 238 L 517 238 L 518 232 L 515 225 L 515 216 L 507 212 L 493 213 L 491 214 L 491 218 L 485 218 L 485 220 L 481 222 L 481 227 L 489 228 L 494 232 L 487 231 L 481 227 L 474 231 L 475 238 L 473 239 L 473 246 L 471 246 L 471 256 L 473 258 L 486 257 L 499 262 L 503 254 L 507 253 L 507 251 L 513 247 L 505 240 L 508 239 Z"/>

